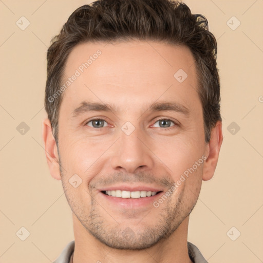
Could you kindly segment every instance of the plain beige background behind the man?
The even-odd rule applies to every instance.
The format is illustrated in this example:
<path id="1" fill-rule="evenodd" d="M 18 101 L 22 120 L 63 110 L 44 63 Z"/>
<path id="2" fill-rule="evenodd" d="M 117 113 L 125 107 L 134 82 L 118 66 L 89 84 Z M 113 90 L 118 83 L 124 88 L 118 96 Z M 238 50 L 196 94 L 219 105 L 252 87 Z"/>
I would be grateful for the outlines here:
<path id="1" fill-rule="evenodd" d="M 61 181 L 49 174 L 41 122 L 47 47 L 88 3 L 0 0 L 0 262 L 52 262 L 74 238 Z M 210 263 L 263 262 L 263 1 L 185 3 L 208 18 L 218 40 L 224 136 L 215 176 L 203 182 L 190 217 L 189 241 Z M 30 22 L 25 30 L 16 25 L 21 16 Z M 232 16 L 241 23 L 235 30 Z M 24 135 L 21 122 L 29 126 Z M 240 127 L 234 135 L 232 122 Z M 30 232 L 25 241 L 16 235 L 21 227 Z"/>

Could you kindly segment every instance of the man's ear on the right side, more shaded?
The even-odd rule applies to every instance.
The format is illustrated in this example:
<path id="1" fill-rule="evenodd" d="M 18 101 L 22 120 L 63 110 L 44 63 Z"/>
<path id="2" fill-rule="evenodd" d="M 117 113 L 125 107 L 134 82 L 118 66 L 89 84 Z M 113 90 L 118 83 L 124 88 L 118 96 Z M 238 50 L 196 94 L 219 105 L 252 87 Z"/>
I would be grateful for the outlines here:
<path id="1" fill-rule="evenodd" d="M 218 121 L 215 127 L 211 129 L 210 141 L 206 145 L 205 156 L 207 158 L 203 165 L 203 181 L 210 180 L 215 173 L 222 142 L 222 122 Z"/>

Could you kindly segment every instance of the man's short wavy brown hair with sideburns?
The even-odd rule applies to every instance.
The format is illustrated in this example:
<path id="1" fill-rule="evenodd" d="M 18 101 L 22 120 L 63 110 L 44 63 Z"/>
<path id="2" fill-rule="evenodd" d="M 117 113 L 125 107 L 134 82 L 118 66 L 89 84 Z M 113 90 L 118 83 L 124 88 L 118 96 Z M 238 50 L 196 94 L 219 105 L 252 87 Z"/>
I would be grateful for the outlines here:
<path id="1" fill-rule="evenodd" d="M 78 44 L 96 41 L 153 40 L 187 46 L 196 62 L 198 94 L 202 103 L 205 142 L 220 116 L 217 43 L 201 14 L 172 0 L 98 0 L 75 10 L 47 51 L 45 108 L 58 144 L 61 87 L 66 60 Z M 53 98 L 50 101 L 50 98 Z"/>

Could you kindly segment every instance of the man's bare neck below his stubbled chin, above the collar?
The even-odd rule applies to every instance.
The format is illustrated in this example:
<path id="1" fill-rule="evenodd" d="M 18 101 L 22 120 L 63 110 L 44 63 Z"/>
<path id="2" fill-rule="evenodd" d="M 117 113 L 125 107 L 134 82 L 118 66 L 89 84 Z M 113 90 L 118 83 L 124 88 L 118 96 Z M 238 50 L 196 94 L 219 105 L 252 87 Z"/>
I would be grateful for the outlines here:
<path id="1" fill-rule="evenodd" d="M 187 249 L 189 216 L 168 238 L 144 250 L 112 249 L 93 237 L 73 214 L 75 248 L 73 263 L 192 263 Z"/>

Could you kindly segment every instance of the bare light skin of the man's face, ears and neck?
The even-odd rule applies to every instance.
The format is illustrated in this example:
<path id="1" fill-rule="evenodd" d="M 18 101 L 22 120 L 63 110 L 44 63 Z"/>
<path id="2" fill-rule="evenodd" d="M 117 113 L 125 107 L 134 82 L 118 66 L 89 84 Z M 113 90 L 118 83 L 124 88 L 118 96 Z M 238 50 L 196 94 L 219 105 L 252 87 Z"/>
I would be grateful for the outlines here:
<path id="1" fill-rule="evenodd" d="M 62 180 L 72 210 L 73 261 L 192 262 L 187 252 L 189 215 L 202 180 L 214 175 L 222 143 L 221 122 L 211 130 L 210 142 L 204 141 L 193 55 L 187 47 L 159 42 L 84 43 L 69 54 L 65 80 L 98 49 L 99 58 L 63 93 L 58 147 L 50 121 L 43 121 L 50 174 Z M 174 78 L 178 69 L 188 75 L 182 83 Z M 111 104 L 118 111 L 73 117 L 83 101 Z M 154 102 L 176 102 L 189 115 L 149 111 Z M 158 121 L 160 117 L 171 122 Z M 91 118 L 105 122 L 101 127 Z M 130 135 L 121 129 L 127 121 L 135 127 Z M 206 160 L 158 208 L 153 203 L 120 208 L 100 192 L 122 182 L 166 192 L 202 156 Z M 82 179 L 76 188 L 69 183 L 74 174 Z M 132 238 L 123 234 L 127 230 Z"/>

